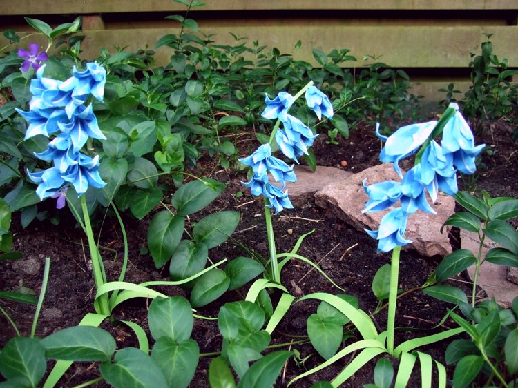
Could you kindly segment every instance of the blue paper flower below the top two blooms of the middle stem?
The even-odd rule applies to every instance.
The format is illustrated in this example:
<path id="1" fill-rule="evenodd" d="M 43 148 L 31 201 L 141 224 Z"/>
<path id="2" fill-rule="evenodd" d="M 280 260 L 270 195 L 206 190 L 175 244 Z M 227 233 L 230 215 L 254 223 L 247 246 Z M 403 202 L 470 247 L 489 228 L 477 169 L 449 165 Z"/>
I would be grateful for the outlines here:
<path id="1" fill-rule="evenodd" d="M 297 158 L 307 155 L 307 147 L 313 145 L 316 136 L 302 121 L 290 114 L 282 122 L 283 129 L 277 130 L 275 140 L 282 154 L 298 163 Z"/>

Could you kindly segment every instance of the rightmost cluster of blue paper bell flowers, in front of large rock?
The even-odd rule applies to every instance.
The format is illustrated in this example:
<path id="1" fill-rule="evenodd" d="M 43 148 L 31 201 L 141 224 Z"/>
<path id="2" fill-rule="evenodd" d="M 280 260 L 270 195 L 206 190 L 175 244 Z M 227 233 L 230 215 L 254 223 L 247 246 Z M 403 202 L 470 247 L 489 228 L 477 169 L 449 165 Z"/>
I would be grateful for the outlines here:
<path id="1" fill-rule="evenodd" d="M 394 170 L 403 178 L 401 182 L 383 181 L 370 186 L 365 181 L 363 183 L 369 196 L 363 212 L 378 212 L 401 203 L 401 207 L 395 207 L 383 216 L 378 230 L 365 229 L 378 240 L 378 251 L 389 252 L 397 245 L 412 242 L 403 237 L 408 216 L 417 210 L 435 213 L 428 203 L 426 191 L 434 202 L 439 189 L 452 196 L 458 190 L 457 171 L 464 174 L 476 171 L 475 158 L 486 145 L 474 145 L 473 134 L 459 112 L 459 106 L 452 103 L 450 108 L 454 108 L 455 113 L 443 127 L 440 145 L 430 139 L 437 121 L 407 125 L 388 137 L 379 134 L 379 126 L 376 125 L 376 134 L 385 141 L 381 161 L 394 163 Z M 399 161 L 414 154 L 425 143 L 419 163 L 403 176 Z"/>

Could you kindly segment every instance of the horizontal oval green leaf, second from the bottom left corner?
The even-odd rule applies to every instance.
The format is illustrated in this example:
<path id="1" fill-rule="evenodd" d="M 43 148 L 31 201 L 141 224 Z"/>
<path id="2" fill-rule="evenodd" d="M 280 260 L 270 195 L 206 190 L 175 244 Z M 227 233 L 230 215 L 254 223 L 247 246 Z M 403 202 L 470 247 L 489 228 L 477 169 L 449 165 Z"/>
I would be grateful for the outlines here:
<path id="1" fill-rule="evenodd" d="M 93 326 L 67 327 L 50 334 L 41 345 L 48 358 L 70 361 L 106 361 L 115 351 L 115 339 Z"/>

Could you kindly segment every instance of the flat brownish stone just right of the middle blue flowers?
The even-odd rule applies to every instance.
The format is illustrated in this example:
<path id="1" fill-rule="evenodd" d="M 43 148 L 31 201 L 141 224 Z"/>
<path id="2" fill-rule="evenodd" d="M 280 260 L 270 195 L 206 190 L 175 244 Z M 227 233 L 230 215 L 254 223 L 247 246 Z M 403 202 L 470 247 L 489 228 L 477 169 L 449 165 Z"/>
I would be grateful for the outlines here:
<path id="1" fill-rule="evenodd" d="M 289 198 L 294 204 L 303 203 L 329 183 L 343 181 L 352 175 L 352 172 L 336 167 L 317 166 L 315 172 L 313 172 L 311 167 L 305 165 L 296 165 L 294 172 L 297 181 L 287 182 L 286 184 Z M 273 181 L 273 178 L 270 181 Z"/>

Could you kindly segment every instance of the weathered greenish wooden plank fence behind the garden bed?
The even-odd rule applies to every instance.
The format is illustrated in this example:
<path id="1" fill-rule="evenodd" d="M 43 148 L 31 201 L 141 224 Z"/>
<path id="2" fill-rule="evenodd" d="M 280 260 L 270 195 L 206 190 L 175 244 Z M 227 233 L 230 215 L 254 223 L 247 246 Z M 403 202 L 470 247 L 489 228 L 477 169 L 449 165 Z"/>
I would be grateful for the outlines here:
<path id="1" fill-rule="evenodd" d="M 250 42 L 276 47 L 296 59 L 314 62 L 311 48 L 323 52 L 348 48 L 361 67 L 370 54 L 394 68 L 407 70 L 414 92 L 436 99 L 437 89 L 454 81 L 466 88 L 470 52 L 478 53 L 484 34 L 492 34 L 494 53 L 518 68 L 518 0 L 205 0 L 189 17 L 200 32 L 233 44 L 232 32 Z M 1 0 L 0 29 L 29 32 L 23 16 L 51 25 L 83 17 L 85 58 L 101 48 L 115 51 L 154 48 L 178 23 L 164 19 L 184 14 L 172 0 Z M 3 38 L 2 38 L 3 39 Z M 296 42 L 302 41 L 296 50 Z M 1 41 L 5 43 L 5 39 Z M 157 50 L 167 63 L 171 49 Z M 516 80 L 513 80 L 516 81 Z"/>

